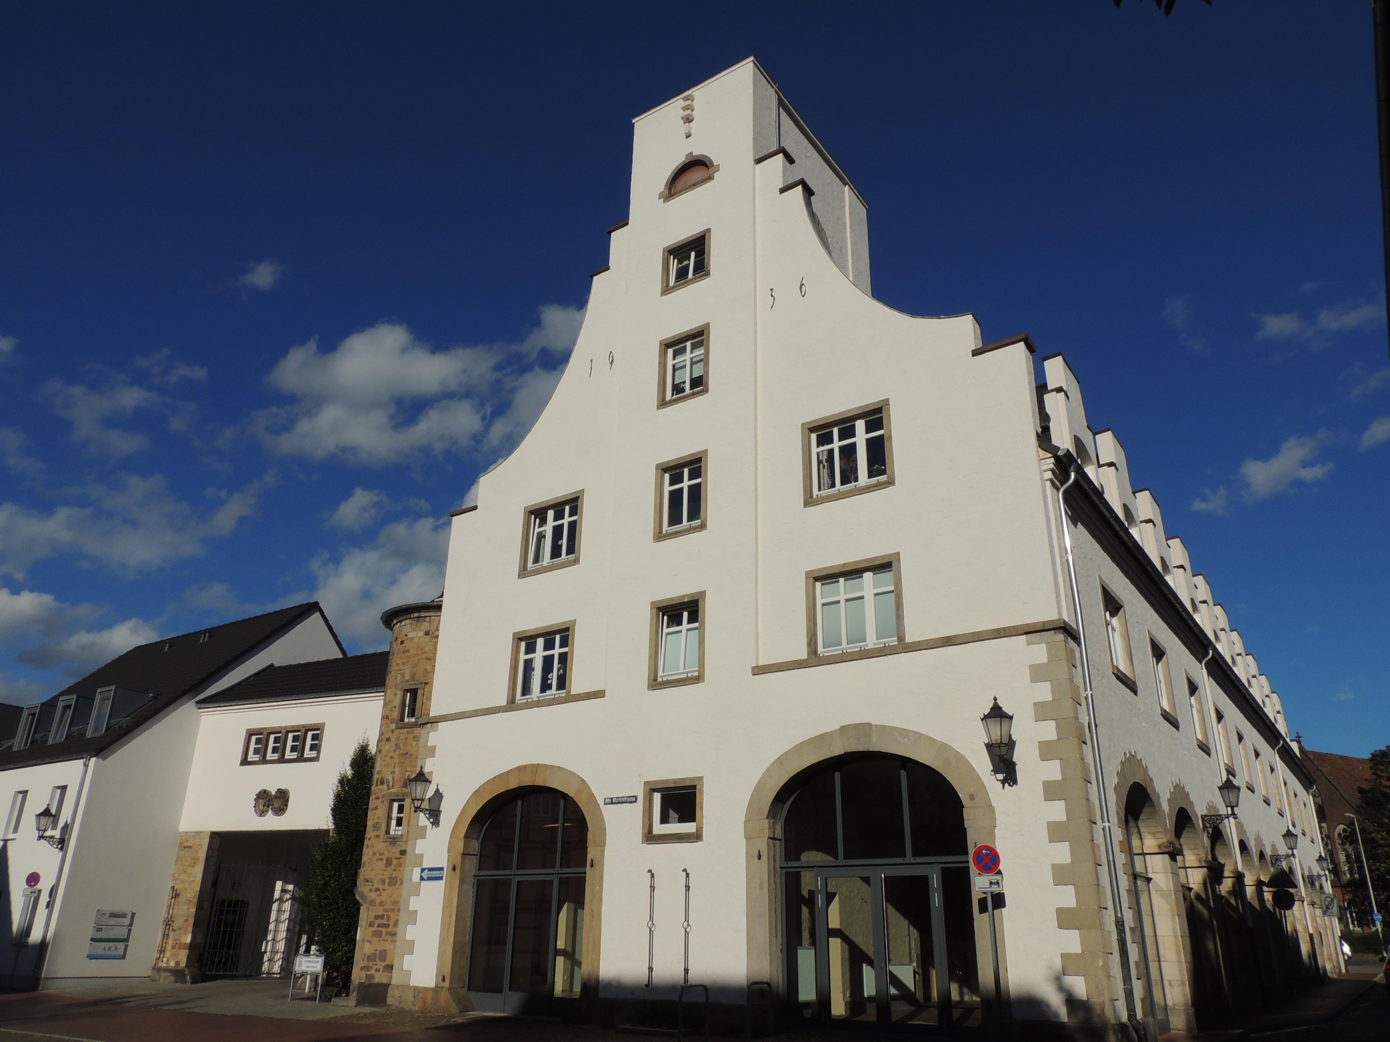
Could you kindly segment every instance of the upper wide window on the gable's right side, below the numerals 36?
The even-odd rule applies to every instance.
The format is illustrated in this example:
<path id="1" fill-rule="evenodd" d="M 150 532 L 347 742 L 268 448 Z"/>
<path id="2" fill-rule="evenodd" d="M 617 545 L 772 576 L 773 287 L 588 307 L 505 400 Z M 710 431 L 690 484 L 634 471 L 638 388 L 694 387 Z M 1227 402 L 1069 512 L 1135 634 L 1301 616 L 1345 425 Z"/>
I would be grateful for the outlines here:
<path id="1" fill-rule="evenodd" d="M 892 485 L 888 403 L 802 424 L 806 506 Z"/>

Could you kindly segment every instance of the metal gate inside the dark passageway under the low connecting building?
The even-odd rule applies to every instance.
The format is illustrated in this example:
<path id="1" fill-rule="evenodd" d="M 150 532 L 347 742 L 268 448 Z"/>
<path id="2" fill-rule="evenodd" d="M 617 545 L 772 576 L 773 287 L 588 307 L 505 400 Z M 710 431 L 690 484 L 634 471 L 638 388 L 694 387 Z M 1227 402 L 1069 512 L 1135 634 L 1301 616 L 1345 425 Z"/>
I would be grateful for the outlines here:
<path id="1" fill-rule="evenodd" d="M 218 977 L 288 977 L 299 948 L 295 870 L 224 864 L 213 885 L 203 943 L 203 973 Z"/>

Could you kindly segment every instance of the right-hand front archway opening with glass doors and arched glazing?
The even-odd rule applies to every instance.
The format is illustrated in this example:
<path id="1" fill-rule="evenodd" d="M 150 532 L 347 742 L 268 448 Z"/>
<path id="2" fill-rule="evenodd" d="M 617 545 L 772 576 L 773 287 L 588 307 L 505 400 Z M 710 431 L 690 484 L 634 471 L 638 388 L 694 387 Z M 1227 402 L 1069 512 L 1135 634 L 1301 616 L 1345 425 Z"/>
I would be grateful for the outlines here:
<path id="1" fill-rule="evenodd" d="M 787 998 L 802 1017 L 979 1024 L 965 810 L 938 771 L 892 756 L 817 764 L 787 786 Z"/>

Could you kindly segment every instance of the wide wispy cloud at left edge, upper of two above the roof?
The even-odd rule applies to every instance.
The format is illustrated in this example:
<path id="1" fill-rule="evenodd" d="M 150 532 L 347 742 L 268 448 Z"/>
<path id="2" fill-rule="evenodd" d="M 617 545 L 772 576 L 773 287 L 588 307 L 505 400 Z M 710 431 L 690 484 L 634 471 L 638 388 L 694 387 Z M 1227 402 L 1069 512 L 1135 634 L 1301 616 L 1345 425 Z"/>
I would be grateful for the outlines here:
<path id="1" fill-rule="evenodd" d="M 60 553 L 126 574 L 196 557 L 208 540 L 231 534 L 272 481 L 274 475 L 265 475 L 231 493 L 214 492 L 221 504 L 210 513 L 170 493 L 158 475 L 82 489 L 95 507 L 43 513 L 0 503 L 0 575 L 24 578 L 29 565 Z"/>

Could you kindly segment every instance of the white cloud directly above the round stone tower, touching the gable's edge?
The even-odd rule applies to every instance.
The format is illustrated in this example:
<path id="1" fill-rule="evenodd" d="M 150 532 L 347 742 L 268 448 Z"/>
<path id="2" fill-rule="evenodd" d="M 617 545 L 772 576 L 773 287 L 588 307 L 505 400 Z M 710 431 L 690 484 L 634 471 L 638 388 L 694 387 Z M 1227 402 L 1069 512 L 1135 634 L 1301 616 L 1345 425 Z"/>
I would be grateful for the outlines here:
<path id="1" fill-rule="evenodd" d="M 443 589 L 449 525 L 434 518 L 393 521 L 375 542 L 338 557 L 320 554 L 310 570 L 318 581 L 313 599 L 334 628 L 364 647 L 379 647 L 388 634 L 381 613 L 395 604 L 431 600 Z"/>

